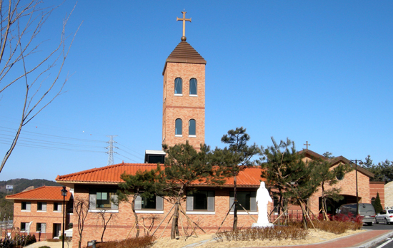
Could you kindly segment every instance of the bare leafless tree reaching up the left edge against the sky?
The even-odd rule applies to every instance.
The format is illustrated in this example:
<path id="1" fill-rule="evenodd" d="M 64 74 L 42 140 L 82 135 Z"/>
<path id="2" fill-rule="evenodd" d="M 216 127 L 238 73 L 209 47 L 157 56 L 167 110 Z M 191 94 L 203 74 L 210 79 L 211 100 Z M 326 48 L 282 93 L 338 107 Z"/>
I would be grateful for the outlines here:
<path id="1" fill-rule="evenodd" d="M 10 91 L 13 85 L 24 88 L 19 126 L 1 161 L 0 172 L 14 150 L 24 125 L 61 94 L 69 78 L 61 79 L 60 74 L 79 30 L 78 27 L 74 35 L 66 35 L 66 24 L 72 11 L 63 21 L 56 47 L 48 53 L 40 51 L 44 46 L 41 29 L 58 7 L 45 6 L 41 0 L 0 0 L 0 94 Z"/>

